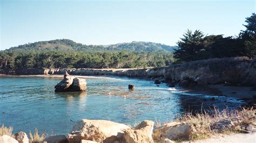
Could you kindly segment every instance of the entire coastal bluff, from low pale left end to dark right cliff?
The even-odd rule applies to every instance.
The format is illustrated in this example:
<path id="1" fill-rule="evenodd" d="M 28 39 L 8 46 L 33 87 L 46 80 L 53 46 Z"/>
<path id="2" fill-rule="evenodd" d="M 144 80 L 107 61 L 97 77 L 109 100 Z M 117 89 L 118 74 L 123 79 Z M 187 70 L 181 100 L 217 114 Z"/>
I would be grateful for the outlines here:
<path id="1" fill-rule="evenodd" d="M 162 82 L 181 87 L 225 83 L 228 85 L 256 86 L 256 58 L 214 58 L 184 62 L 177 65 L 142 69 L 18 69 L 0 70 L 9 75 L 116 75 L 158 78 Z"/>

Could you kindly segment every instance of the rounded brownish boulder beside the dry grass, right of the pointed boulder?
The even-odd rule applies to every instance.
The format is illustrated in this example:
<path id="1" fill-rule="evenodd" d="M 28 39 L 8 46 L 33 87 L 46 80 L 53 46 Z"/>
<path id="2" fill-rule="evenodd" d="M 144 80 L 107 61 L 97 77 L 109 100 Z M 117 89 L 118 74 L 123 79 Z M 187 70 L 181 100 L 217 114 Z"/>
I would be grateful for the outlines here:
<path id="1" fill-rule="evenodd" d="M 188 139 L 192 133 L 192 127 L 185 122 L 172 122 L 164 124 L 154 130 L 154 140 L 169 139 Z"/>

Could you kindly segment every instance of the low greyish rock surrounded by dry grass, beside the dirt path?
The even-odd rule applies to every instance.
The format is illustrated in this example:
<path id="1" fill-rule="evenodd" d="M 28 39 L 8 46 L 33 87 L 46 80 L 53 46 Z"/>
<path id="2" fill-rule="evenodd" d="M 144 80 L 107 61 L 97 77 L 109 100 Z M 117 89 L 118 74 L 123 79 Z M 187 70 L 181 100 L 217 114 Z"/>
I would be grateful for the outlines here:
<path id="1" fill-rule="evenodd" d="M 233 118 L 228 120 L 221 120 L 213 125 L 211 125 L 211 129 L 214 132 L 224 132 L 226 130 L 232 130 L 239 126 L 239 119 Z"/>

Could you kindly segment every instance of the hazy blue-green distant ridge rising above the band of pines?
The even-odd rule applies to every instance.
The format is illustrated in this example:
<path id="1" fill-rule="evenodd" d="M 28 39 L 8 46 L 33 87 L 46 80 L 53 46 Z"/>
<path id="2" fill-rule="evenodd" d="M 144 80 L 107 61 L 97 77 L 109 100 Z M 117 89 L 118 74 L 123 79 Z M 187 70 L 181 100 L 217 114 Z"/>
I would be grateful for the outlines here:
<path id="1" fill-rule="evenodd" d="M 113 45 L 84 45 L 69 39 L 38 41 L 5 49 L 16 52 L 76 51 L 76 52 L 173 52 L 176 46 L 144 41 L 124 42 Z"/>

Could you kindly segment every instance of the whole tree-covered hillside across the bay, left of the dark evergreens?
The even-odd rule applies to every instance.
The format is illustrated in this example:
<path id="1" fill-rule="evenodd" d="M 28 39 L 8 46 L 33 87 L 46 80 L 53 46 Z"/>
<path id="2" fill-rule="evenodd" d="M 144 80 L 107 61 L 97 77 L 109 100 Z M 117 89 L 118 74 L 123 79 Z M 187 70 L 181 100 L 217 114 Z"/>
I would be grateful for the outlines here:
<path id="1" fill-rule="evenodd" d="M 0 68 L 142 68 L 173 62 L 172 46 L 153 42 L 83 45 L 72 40 L 39 41 L 0 51 Z"/>

